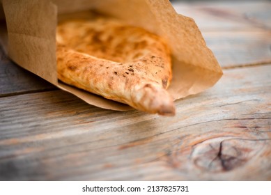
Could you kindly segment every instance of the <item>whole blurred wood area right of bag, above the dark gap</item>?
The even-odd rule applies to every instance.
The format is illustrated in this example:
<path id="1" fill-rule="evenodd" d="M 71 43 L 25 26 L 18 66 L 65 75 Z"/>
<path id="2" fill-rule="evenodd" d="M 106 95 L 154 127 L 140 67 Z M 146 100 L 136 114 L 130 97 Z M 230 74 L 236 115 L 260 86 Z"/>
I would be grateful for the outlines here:
<path id="1" fill-rule="evenodd" d="M 271 63 L 270 1 L 173 1 L 192 17 L 222 67 Z"/>

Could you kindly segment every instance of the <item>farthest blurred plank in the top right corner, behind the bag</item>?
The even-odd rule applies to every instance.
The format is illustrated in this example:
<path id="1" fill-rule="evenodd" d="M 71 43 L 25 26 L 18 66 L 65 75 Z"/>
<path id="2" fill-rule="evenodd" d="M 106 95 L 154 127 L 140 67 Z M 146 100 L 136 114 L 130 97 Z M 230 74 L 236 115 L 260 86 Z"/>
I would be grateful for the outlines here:
<path id="1" fill-rule="evenodd" d="M 270 1 L 173 1 L 173 6 L 201 31 L 271 29 Z"/>

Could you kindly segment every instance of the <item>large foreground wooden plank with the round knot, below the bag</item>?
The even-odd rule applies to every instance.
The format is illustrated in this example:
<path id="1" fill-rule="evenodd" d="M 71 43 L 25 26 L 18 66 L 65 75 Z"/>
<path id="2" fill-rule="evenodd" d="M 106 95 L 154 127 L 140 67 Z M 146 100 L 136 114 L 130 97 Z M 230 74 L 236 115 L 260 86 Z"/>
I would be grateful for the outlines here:
<path id="1" fill-rule="evenodd" d="M 271 180 L 270 70 L 225 70 L 175 117 L 63 91 L 1 98 L 0 180 Z"/>

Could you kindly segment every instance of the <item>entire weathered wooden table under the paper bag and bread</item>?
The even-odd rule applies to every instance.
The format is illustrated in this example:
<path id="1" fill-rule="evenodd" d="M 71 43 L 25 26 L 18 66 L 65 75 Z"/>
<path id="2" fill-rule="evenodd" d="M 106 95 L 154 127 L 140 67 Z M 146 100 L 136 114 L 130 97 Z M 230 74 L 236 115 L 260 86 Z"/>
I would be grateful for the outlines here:
<path id="1" fill-rule="evenodd" d="M 0 180 L 271 180 L 271 1 L 173 1 L 224 69 L 175 117 L 86 104 L 0 55 Z"/>

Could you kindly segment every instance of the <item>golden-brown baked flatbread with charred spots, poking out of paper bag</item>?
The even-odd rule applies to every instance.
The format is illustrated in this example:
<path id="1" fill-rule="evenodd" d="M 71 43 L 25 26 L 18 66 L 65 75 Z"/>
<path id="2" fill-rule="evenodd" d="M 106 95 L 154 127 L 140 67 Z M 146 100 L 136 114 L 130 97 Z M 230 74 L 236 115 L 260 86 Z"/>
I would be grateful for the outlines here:
<path id="1" fill-rule="evenodd" d="M 58 78 L 150 114 L 174 115 L 171 54 L 153 33 L 109 19 L 68 20 L 56 32 Z"/>

